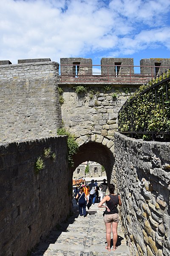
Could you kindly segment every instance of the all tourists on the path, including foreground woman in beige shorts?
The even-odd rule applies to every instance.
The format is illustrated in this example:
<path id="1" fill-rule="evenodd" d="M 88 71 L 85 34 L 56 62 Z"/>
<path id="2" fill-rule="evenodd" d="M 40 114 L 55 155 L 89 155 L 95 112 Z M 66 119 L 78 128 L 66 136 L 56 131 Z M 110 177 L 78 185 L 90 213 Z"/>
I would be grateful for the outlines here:
<path id="1" fill-rule="evenodd" d="M 106 195 L 106 191 L 109 191 L 109 195 Z M 90 209 L 92 204 L 99 198 L 100 190 L 100 202 L 98 207 L 105 208 L 103 213 L 104 222 L 106 227 L 106 250 L 111 251 L 111 230 L 113 233 L 113 250 L 116 250 L 117 243 L 117 226 L 119 222 L 119 214 L 117 206 L 121 206 L 120 195 L 114 193 L 115 186 L 113 184 L 108 185 L 106 179 L 98 186 L 97 180 L 91 180 L 91 183 L 86 184 L 82 182 L 80 187 L 74 189 L 74 197 L 79 205 L 79 215 L 86 217 L 86 206 Z"/>

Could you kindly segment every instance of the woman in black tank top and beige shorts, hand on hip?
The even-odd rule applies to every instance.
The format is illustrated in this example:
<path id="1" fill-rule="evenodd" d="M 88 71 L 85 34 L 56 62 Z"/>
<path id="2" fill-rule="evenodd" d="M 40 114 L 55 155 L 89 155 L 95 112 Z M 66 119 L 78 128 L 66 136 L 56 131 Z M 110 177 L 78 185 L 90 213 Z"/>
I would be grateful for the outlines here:
<path id="1" fill-rule="evenodd" d="M 115 186 L 110 184 L 108 186 L 110 195 L 106 195 L 102 201 L 98 204 L 98 207 L 105 207 L 104 221 L 106 226 L 106 241 L 107 246 L 105 247 L 108 251 L 111 251 L 111 225 L 113 233 L 113 250 L 116 250 L 117 242 L 117 226 L 119 221 L 117 206 L 122 205 L 120 195 L 114 194 Z M 106 205 L 103 205 L 106 202 Z"/>

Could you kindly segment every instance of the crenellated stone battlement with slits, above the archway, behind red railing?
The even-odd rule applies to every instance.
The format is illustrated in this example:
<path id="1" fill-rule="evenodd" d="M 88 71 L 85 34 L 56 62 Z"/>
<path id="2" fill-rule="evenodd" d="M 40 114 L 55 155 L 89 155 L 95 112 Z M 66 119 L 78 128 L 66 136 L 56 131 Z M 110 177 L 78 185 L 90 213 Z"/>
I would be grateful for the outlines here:
<path id="1" fill-rule="evenodd" d="M 144 84 L 169 68 L 170 58 L 145 58 L 140 66 L 134 66 L 133 58 L 102 58 L 100 65 L 91 58 L 61 58 L 60 82 Z"/>

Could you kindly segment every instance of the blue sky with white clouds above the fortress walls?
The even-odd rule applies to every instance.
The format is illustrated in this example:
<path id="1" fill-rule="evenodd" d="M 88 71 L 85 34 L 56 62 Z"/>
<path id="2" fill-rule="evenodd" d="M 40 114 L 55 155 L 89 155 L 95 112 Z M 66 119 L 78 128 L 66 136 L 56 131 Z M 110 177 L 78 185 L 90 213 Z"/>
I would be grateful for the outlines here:
<path id="1" fill-rule="evenodd" d="M 170 0 L 0 0 L 0 60 L 170 58 Z"/>

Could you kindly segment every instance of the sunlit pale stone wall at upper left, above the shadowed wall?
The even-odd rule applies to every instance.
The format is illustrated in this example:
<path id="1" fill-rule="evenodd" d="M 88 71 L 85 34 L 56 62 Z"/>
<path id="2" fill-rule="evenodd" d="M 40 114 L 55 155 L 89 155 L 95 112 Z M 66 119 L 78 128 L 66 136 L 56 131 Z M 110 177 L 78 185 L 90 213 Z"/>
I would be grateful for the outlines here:
<path id="1" fill-rule="evenodd" d="M 0 141 L 56 135 L 61 124 L 59 64 L 50 59 L 0 61 Z"/>

